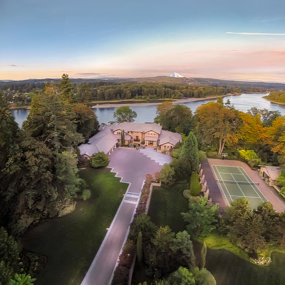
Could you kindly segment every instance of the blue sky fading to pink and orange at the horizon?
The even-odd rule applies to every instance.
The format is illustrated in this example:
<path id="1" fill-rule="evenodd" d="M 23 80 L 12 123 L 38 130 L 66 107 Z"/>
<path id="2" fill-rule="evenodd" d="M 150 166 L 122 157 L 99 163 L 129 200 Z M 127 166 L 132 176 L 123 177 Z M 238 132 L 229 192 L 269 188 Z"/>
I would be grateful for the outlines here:
<path id="1" fill-rule="evenodd" d="M 285 83 L 284 11 L 280 0 L 1 0 L 0 80 Z"/>

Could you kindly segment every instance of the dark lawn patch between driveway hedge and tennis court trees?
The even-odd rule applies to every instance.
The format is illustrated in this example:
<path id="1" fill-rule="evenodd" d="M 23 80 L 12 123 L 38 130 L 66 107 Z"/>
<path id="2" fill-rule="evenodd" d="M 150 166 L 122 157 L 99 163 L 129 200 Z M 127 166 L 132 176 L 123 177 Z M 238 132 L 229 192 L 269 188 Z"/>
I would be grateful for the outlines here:
<path id="1" fill-rule="evenodd" d="M 170 186 L 153 187 L 148 216 L 154 224 L 158 227 L 168 225 L 173 232 L 185 229 L 187 223 L 180 214 L 188 211 L 188 199 L 183 196 L 185 189 L 189 189 L 185 180 Z"/>

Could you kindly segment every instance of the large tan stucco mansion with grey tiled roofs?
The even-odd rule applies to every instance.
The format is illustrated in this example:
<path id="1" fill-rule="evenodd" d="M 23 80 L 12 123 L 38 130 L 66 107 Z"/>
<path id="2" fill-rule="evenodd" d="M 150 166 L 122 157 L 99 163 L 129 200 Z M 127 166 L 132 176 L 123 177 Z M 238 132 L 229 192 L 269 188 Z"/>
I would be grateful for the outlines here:
<path id="1" fill-rule="evenodd" d="M 156 123 L 114 123 L 101 125 L 99 132 L 88 143 L 79 146 L 80 154 L 88 157 L 101 151 L 110 154 L 116 148 L 116 143 L 121 142 L 121 132 L 124 132 L 125 145 L 143 143 L 162 150 L 172 149 L 182 139 L 181 134 L 164 131 Z"/>

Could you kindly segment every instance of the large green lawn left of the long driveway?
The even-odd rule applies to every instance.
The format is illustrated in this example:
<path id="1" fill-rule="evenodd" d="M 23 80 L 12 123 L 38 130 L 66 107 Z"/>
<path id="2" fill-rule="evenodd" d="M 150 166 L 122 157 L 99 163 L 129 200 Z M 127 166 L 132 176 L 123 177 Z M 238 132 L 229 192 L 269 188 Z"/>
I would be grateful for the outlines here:
<path id="1" fill-rule="evenodd" d="M 128 186 L 110 168 L 87 167 L 79 174 L 91 197 L 77 201 L 72 213 L 47 220 L 23 239 L 23 248 L 47 256 L 47 267 L 36 276 L 34 285 L 82 282 Z"/>

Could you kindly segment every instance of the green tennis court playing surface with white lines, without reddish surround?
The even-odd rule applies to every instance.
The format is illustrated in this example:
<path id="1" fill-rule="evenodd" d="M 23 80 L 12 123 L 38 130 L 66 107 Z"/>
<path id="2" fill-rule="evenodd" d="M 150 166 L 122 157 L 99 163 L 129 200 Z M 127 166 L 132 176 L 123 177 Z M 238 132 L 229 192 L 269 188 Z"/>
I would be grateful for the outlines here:
<path id="1" fill-rule="evenodd" d="M 267 202 L 257 186 L 242 167 L 212 165 L 216 177 L 229 202 L 246 197 L 251 208 L 257 209 L 260 202 Z"/>

